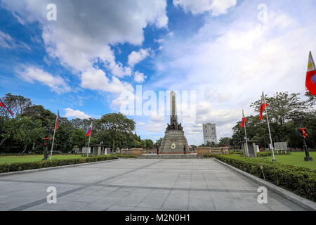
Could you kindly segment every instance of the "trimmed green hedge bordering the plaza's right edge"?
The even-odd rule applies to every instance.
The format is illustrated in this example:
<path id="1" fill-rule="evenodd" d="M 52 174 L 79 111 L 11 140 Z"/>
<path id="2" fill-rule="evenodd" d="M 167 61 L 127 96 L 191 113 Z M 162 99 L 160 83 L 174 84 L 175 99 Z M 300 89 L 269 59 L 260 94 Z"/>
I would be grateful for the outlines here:
<path id="1" fill-rule="evenodd" d="M 316 169 L 281 165 L 270 160 L 237 155 L 216 155 L 216 159 L 262 179 L 263 174 L 258 164 L 263 163 L 263 172 L 267 181 L 316 202 Z"/>

